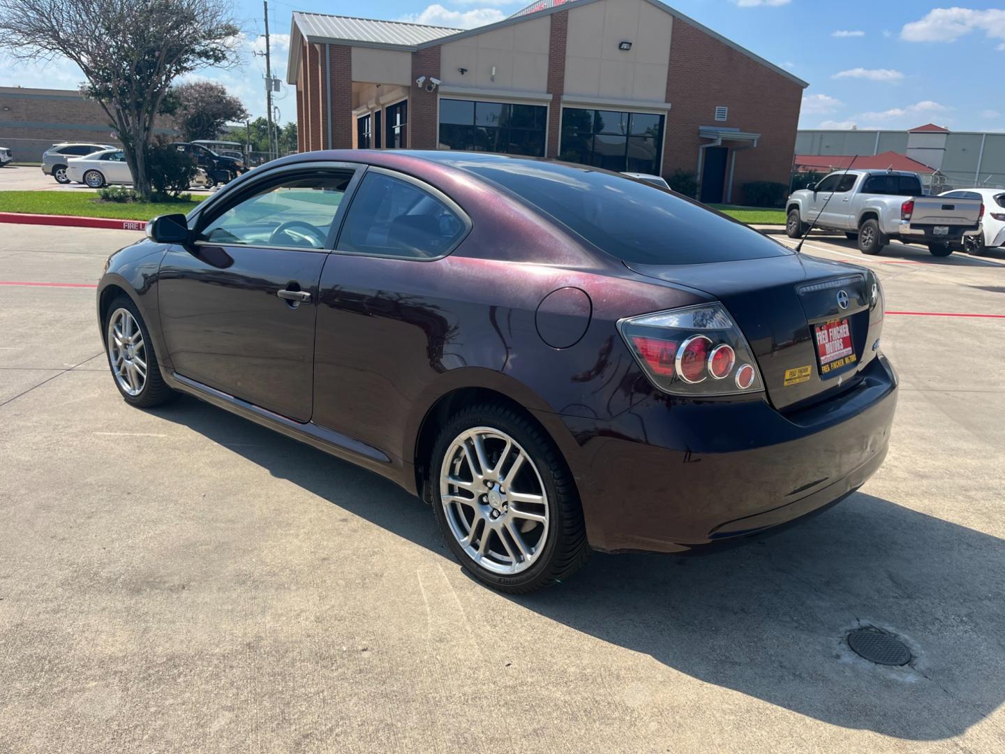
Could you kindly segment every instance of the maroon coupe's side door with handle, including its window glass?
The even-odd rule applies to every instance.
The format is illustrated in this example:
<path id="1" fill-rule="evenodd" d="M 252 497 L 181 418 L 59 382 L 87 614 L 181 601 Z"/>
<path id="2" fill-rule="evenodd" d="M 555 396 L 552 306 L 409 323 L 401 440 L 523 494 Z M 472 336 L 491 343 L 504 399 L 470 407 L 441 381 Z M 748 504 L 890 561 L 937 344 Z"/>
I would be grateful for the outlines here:
<path id="1" fill-rule="evenodd" d="M 351 164 L 290 166 L 221 195 L 159 272 L 178 374 L 296 421 L 313 406 L 318 285 L 355 185 Z"/>

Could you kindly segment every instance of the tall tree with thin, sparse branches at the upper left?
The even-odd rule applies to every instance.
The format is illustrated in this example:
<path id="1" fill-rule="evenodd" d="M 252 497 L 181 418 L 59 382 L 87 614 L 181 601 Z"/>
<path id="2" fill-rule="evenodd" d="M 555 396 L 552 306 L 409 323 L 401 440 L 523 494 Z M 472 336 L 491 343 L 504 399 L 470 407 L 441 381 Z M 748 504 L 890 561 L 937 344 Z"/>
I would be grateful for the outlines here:
<path id="1" fill-rule="evenodd" d="M 118 131 L 134 187 L 149 198 L 147 157 L 171 83 L 205 66 L 237 64 L 227 0 L 0 0 L 0 47 L 12 57 L 67 57 L 81 91 Z"/>

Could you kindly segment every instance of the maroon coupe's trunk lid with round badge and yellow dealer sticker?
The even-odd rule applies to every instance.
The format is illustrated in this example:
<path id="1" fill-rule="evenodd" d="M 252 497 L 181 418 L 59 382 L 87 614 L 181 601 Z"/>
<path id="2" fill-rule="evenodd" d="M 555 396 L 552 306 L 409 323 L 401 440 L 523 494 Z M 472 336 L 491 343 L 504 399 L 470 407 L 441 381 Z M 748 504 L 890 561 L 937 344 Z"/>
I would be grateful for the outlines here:
<path id="1" fill-rule="evenodd" d="M 875 357 L 882 312 L 873 306 L 878 284 L 870 270 L 795 253 L 708 264 L 625 264 L 721 301 L 747 338 L 778 409 L 802 407 L 849 387 Z M 844 321 L 850 332 L 840 327 Z M 818 343 L 818 326 L 829 341 L 821 336 Z"/>

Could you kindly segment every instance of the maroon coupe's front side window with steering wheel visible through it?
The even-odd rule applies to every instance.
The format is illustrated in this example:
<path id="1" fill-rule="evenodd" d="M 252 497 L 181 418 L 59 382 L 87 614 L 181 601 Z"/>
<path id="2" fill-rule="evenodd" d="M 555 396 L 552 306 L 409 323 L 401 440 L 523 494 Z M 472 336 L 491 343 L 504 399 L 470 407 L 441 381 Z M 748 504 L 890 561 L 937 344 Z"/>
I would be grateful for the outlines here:
<path id="1" fill-rule="evenodd" d="M 199 239 L 224 245 L 325 248 L 351 179 L 348 171 L 324 172 L 269 183 L 212 219 Z"/>

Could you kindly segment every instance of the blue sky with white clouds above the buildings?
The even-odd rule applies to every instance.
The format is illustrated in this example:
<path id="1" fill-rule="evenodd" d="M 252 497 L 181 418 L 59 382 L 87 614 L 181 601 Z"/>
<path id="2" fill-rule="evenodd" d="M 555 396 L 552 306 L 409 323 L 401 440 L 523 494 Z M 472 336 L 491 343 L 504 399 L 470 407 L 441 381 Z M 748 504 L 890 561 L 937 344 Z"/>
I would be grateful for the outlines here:
<path id="1" fill-rule="evenodd" d="M 469 28 L 505 18 L 529 0 L 270 0 L 272 60 L 285 71 L 293 10 Z M 954 131 L 1005 131 L 1005 9 L 999 0 L 671 0 L 672 7 L 810 82 L 801 128 L 907 129 L 934 122 Z M 244 64 L 200 71 L 219 80 L 254 115 L 264 114 L 260 0 L 236 0 Z M 19 65 L 0 58 L 5 85 L 74 87 L 68 61 Z M 294 120 L 293 93 L 277 96 Z"/>

